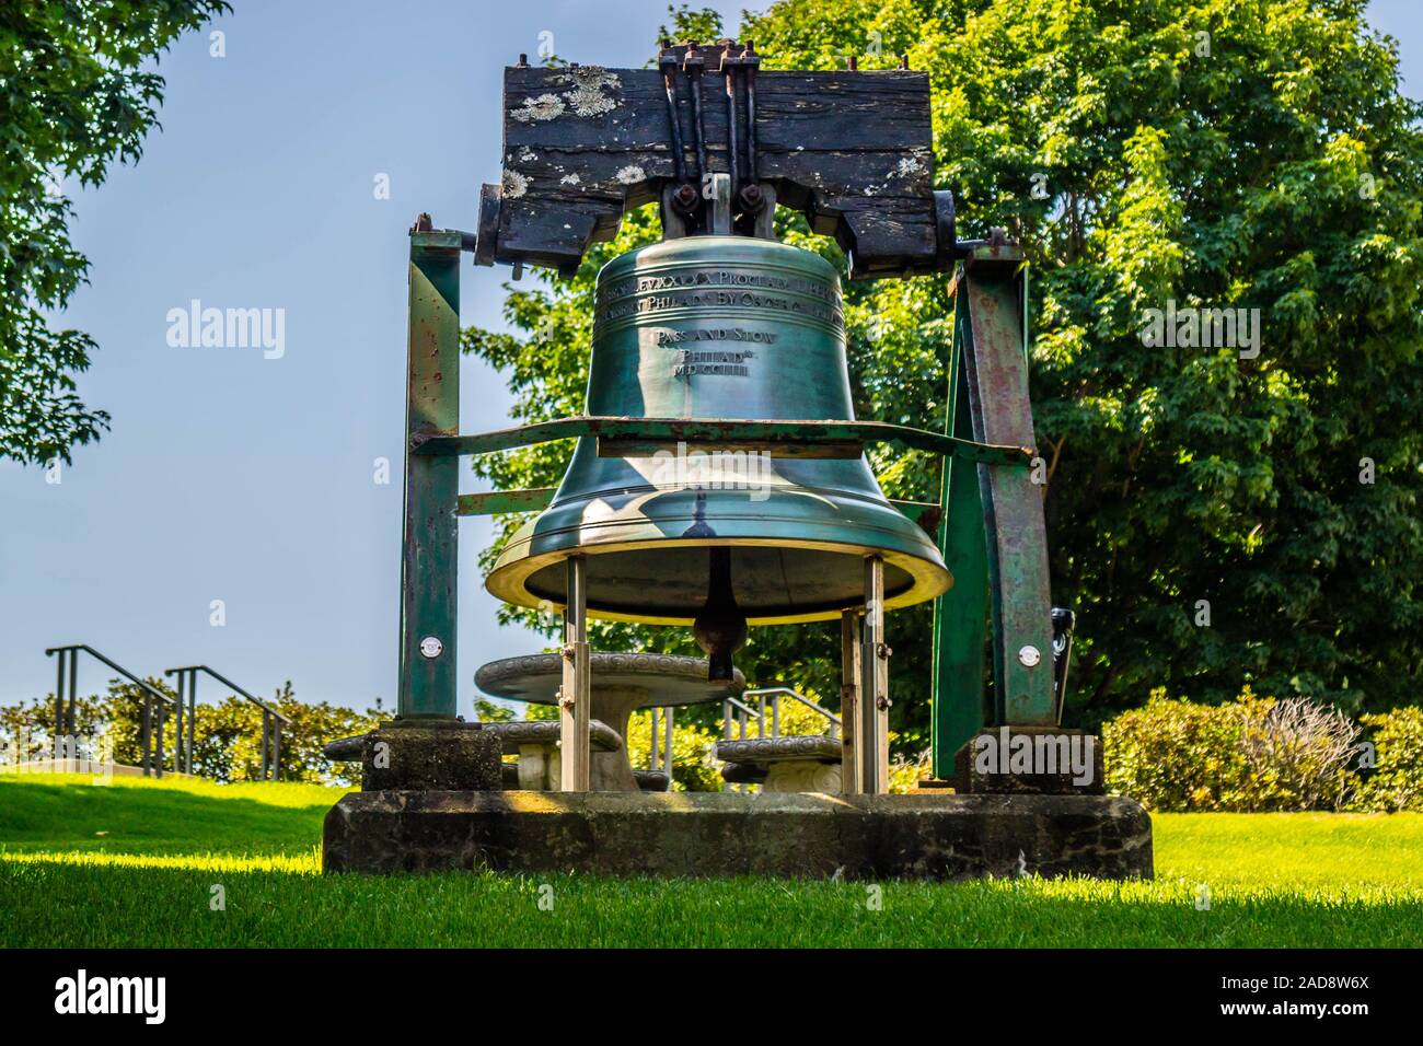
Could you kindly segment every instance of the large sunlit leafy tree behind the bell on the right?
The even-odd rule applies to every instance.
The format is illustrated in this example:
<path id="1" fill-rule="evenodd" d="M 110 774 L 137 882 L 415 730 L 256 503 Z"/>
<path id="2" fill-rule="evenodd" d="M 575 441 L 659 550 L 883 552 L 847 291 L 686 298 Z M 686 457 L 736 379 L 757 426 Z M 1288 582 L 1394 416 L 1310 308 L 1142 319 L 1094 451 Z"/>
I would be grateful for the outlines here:
<path id="1" fill-rule="evenodd" d="M 1096 726 L 1153 687 L 1419 702 L 1423 108 L 1363 9 L 785 0 L 744 16 L 773 68 L 850 54 L 888 68 L 905 53 L 926 70 L 936 184 L 961 235 L 1006 226 L 1030 259 L 1053 595 L 1079 612 L 1069 723 Z M 801 222 L 780 228 L 844 270 Z M 519 421 L 582 408 L 598 268 L 656 238 L 655 215 L 633 215 L 571 280 L 509 293 L 517 334 L 467 332 L 467 350 L 507 371 Z M 946 278 L 845 289 L 858 414 L 942 426 Z M 1148 310 L 1168 303 L 1258 309 L 1259 354 L 1147 344 Z M 475 468 L 546 485 L 569 453 Z M 926 457 L 874 464 L 891 497 L 936 495 Z M 830 632 L 754 629 L 743 667 L 832 703 Z M 894 726 L 914 750 L 928 611 L 892 615 L 891 640 Z M 684 630 L 622 625 L 599 642 L 689 649 Z"/>

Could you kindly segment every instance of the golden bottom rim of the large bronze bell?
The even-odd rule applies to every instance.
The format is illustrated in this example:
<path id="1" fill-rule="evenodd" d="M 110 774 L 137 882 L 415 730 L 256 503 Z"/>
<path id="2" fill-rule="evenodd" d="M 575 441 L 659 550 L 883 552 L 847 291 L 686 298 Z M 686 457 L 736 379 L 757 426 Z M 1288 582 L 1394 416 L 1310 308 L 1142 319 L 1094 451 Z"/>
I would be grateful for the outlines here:
<path id="1" fill-rule="evenodd" d="M 549 605 L 559 609 L 565 608 L 565 602 L 544 599 L 535 596 L 525 588 L 525 582 L 549 566 L 564 559 L 569 559 L 575 555 L 596 556 L 608 555 L 610 552 L 635 552 L 643 548 L 737 548 L 744 545 L 754 546 L 770 546 L 770 548 L 808 548 L 817 552 L 838 552 L 841 555 L 857 555 L 861 559 L 868 559 L 877 552 L 867 548 L 865 545 L 851 545 L 837 541 L 813 541 L 813 539 L 785 539 L 785 538 L 662 538 L 650 541 L 625 541 L 608 545 L 582 545 L 578 548 L 561 548 L 552 552 L 544 552 L 536 556 L 521 556 L 507 564 L 497 565 L 490 575 L 484 579 L 485 591 L 495 599 L 514 606 L 528 606 L 538 609 L 541 606 L 546 608 Z M 942 566 L 929 559 L 922 559 L 916 555 L 909 555 L 908 552 L 896 552 L 894 549 L 881 549 L 878 555 L 884 558 L 887 564 L 894 564 L 905 574 L 909 575 L 912 583 L 904 592 L 892 596 L 885 596 L 885 611 L 898 611 L 905 606 L 915 606 L 918 603 L 936 599 L 953 586 L 953 575 L 949 574 L 948 566 Z M 864 602 L 852 602 L 845 606 L 837 606 L 827 611 L 811 611 L 808 613 L 788 613 L 776 615 L 770 618 L 751 616 L 747 615 L 747 625 L 803 625 L 815 620 L 840 620 L 845 611 L 854 611 L 864 606 Z M 595 606 L 588 608 L 588 616 L 598 620 L 623 620 L 639 625 L 692 625 L 696 619 L 694 613 L 686 616 L 660 616 L 649 613 L 623 613 L 622 611 L 603 611 Z"/>

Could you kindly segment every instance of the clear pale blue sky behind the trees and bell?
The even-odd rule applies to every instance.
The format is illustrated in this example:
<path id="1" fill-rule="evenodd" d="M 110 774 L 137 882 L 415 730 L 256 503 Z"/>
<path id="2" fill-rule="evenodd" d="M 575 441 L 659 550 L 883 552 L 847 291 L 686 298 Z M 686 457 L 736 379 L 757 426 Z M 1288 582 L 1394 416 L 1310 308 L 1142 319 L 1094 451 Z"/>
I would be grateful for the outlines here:
<path id="1" fill-rule="evenodd" d="M 640 65 L 667 17 L 666 0 L 233 6 L 213 26 L 226 57 L 203 31 L 162 58 L 142 161 L 67 186 L 91 285 L 63 319 L 101 346 L 80 390 L 114 428 L 58 485 L 0 463 L 0 702 L 53 689 L 46 646 L 87 642 L 141 675 L 206 663 L 258 693 L 290 679 L 305 700 L 393 704 L 407 229 L 420 211 L 474 228 L 499 176 L 501 70 L 541 33 L 573 61 Z M 743 3 L 712 6 L 734 31 Z M 1416 0 L 1370 16 L 1419 95 Z M 507 275 L 465 260 L 464 323 L 499 324 Z M 285 309 L 285 354 L 169 347 L 168 310 L 195 297 Z M 461 381 L 464 431 L 507 421 L 497 374 L 467 363 Z M 461 527 L 468 714 L 478 665 L 544 640 L 495 625 L 475 569 L 488 527 Z M 85 693 L 111 675 L 80 672 Z"/>

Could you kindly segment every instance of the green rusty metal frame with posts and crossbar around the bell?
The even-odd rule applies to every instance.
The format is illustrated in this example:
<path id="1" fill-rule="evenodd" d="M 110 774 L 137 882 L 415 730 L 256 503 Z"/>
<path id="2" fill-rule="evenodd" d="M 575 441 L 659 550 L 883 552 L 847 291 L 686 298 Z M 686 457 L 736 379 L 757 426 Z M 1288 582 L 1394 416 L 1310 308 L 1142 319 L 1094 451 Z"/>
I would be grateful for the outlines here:
<path id="1" fill-rule="evenodd" d="M 531 512 L 554 488 L 458 494 L 458 458 L 551 440 L 596 438 L 602 455 L 646 455 L 679 443 L 760 450 L 778 457 L 858 457 L 898 443 L 943 458 L 939 501 L 894 502 L 935 525 L 955 585 L 935 602 L 933 773 L 952 776 L 955 751 L 988 722 L 1052 724 L 1052 619 L 1042 495 L 1030 480 L 1022 256 L 976 248 L 955 278 L 949 410 L 943 433 L 879 421 L 569 417 L 461 435 L 461 233 L 416 231 L 410 252 L 404 555 L 401 559 L 400 717 L 455 719 L 457 521 Z M 983 685 L 992 618 L 993 703 Z M 423 640 L 438 640 L 434 643 Z M 1032 648 L 1032 657 L 1019 652 Z"/>

